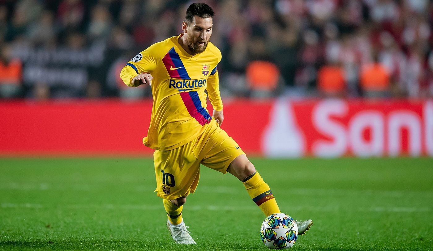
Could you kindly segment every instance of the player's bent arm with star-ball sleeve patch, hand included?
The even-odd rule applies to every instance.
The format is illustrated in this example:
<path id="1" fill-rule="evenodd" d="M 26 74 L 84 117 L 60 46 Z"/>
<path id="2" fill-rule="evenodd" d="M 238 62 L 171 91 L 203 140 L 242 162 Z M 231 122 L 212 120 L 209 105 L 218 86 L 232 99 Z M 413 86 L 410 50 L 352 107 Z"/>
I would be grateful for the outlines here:
<path id="1" fill-rule="evenodd" d="M 153 76 L 151 73 L 155 70 L 159 57 L 155 47 L 156 44 L 151 45 L 123 67 L 120 78 L 127 86 L 152 85 Z"/>

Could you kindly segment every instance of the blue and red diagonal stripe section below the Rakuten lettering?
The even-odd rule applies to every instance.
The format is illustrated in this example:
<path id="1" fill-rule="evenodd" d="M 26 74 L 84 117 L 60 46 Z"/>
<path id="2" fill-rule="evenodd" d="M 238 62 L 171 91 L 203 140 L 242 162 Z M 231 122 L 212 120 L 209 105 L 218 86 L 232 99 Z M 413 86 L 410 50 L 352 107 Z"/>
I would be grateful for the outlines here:
<path id="1" fill-rule="evenodd" d="M 180 92 L 188 113 L 200 124 L 208 124 L 211 120 L 209 113 L 201 105 L 200 97 L 197 92 Z"/>

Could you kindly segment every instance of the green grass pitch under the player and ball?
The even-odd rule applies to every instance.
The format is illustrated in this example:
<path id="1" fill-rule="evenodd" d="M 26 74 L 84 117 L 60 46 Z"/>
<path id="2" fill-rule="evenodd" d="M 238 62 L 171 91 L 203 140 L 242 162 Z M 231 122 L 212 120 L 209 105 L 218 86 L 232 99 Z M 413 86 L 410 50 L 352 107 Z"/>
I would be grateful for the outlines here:
<path id="1" fill-rule="evenodd" d="M 252 159 L 280 209 L 314 226 L 292 250 L 433 250 L 433 159 Z M 1 250 L 268 250 L 233 176 L 203 167 L 174 245 L 151 159 L 0 159 Z"/>

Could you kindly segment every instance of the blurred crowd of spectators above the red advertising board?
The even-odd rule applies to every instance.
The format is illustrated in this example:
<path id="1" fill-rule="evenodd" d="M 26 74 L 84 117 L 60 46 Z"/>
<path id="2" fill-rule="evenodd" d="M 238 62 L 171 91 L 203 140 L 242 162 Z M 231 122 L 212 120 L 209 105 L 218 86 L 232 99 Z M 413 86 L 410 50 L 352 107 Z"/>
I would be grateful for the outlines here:
<path id="1" fill-rule="evenodd" d="M 433 96 L 429 0 L 203 0 L 224 97 Z M 0 0 L 1 98 L 142 98 L 120 70 L 191 1 Z"/>

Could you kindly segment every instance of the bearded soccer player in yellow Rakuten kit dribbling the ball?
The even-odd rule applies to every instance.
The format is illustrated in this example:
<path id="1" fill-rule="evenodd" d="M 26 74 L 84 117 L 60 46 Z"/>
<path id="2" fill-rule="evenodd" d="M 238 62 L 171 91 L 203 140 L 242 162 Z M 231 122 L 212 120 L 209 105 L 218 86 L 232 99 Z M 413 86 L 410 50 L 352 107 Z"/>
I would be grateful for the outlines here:
<path id="1" fill-rule="evenodd" d="M 209 41 L 212 26 L 212 8 L 191 4 L 182 23 L 183 34 L 152 44 L 120 73 L 128 86 L 152 86 L 152 116 L 143 143 L 155 149 L 155 192 L 163 199 L 168 230 L 180 244 L 196 244 L 182 210 L 188 194 L 197 187 L 200 164 L 242 181 L 265 216 L 280 213 L 268 184 L 220 127 L 224 120 L 217 70 L 221 52 Z M 212 116 L 206 109 L 205 90 Z M 312 224 L 310 219 L 298 221 L 299 234 Z"/>

